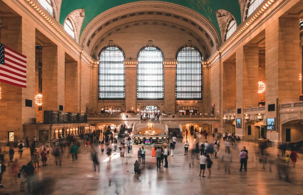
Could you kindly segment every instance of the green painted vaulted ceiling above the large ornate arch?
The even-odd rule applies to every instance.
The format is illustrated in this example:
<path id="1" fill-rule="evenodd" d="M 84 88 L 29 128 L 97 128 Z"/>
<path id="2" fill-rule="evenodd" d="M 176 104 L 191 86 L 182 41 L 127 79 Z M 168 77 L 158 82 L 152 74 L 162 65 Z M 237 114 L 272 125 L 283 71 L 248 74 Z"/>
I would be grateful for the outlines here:
<path id="1" fill-rule="evenodd" d="M 141 0 L 147 1 L 147 0 Z M 241 13 L 238 0 L 162 0 L 186 6 L 205 16 L 216 27 L 220 34 L 219 24 L 216 18 L 216 10 L 223 9 L 229 11 L 241 23 Z M 76 10 L 85 8 L 85 17 L 81 33 L 87 24 L 100 13 L 125 3 L 138 2 L 133 0 L 63 0 L 60 11 L 60 23 L 63 25 L 66 16 Z"/>

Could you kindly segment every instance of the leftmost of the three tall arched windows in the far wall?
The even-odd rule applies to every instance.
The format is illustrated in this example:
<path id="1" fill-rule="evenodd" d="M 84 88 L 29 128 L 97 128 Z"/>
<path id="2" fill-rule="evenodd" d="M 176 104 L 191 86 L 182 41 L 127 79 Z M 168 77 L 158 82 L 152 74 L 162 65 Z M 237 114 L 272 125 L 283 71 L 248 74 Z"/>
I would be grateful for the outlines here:
<path id="1" fill-rule="evenodd" d="M 98 99 L 125 99 L 125 59 L 122 49 L 115 45 L 103 48 L 98 65 Z"/>

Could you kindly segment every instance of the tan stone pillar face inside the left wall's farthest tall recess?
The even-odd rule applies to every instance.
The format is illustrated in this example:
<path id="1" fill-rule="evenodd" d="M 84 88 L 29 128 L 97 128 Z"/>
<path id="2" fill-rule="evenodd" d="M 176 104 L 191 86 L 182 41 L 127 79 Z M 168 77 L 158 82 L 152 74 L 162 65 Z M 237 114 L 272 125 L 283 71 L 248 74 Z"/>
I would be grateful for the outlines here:
<path id="1" fill-rule="evenodd" d="M 65 108 L 66 112 L 80 112 L 80 86 L 78 62 L 65 63 Z"/>

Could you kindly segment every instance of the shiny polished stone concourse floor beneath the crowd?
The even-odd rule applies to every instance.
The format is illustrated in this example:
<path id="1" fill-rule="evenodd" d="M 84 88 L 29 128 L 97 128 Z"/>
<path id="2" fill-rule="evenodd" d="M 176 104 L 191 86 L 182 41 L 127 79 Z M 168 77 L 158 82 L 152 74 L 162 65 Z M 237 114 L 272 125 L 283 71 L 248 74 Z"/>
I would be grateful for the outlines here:
<path id="1" fill-rule="evenodd" d="M 194 139 L 188 138 L 190 148 L 194 146 Z M 204 140 L 203 140 L 204 141 Z M 195 194 L 302 194 L 303 190 L 303 163 L 301 156 L 298 157 L 296 168 L 290 168 L 290 180 L 286 182 L 279 180 L 275 166 L 269 172 L 266 164 L 265 170 L 262 164 L 256 160 L 255 151 L 258 147 L 247 142 L 239 142 L 238 148 L 243 146 L 249 151 L 248 171 L 239 172 L 240 160 L 238 151 L 232 151 L 233 163 L 231 174 L 224 172 L 223 163 L 220 157 L 224 154 L 224 143 L 221 140 L 218 159 L 212 159 L 211 179 L 199 177 L 200 161 L 195 159 L 194 166 L 189 166 L 191 162 L 190 151 L 188 156 L 184 156 L 184 140 L 178 140 L 173 157 L 169 157 L 169 168 L 156 168 L 156 158 L 148 156 L 146 164 L 140 165 L 142 174 L 139 176 L 129 173 L 133 172 L 135 155 L 128 154 L 128 158 L 120 158 L 119 155 L 112 156 L 109 163 L 107 155 L 99 155 L 100 173 L 94 172 L 89 152 L 84 147 L 81 148 L 79 159 L 72 162 L 64 154 L 62 167 L 56 166 L 51 156 L 48 165 L 38 170 L 37 178 L 42 179 L 50 176 L 55 180 L 53 194 L 173 194 L 173 195 L 195 195 Z M 213 139 L 208 142 L 213 143 Z M 277 149 L 267 149 L 271 156 L 276 156 Z M 17 156 L 17 153 L 16 153 Z M 7 157 L 6 157 L 7 158 Z M 20 164 L 26 164 L 30 159 L 29 154 L 24 154 Z M 291 166 L 290 166 L 291 167 Z M 3 176 L 0 194 L 19 194 L 18 183 L 10 184 L 10 167 L 7 168 Z M 205 171 L 208 176 L 208 171 Z M 111 183 L 109 185 L 109 180 Z M 23 192 L 28 194 L 28 192 Z"/>

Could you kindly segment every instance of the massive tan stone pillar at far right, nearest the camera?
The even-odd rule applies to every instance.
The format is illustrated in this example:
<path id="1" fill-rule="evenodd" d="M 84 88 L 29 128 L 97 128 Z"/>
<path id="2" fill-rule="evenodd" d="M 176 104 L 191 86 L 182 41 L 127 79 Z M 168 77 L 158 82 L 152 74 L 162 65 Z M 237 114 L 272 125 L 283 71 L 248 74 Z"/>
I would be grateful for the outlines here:
<path id="1" fill-rule="evenodd" d="M 275 104 L 275 111 L 268 112 L 266 118 L 276 118 L 276 131 L 267 131 L 266 138 L 275 142 L 275 147 L 285 141 L 281 132 L 279 105 L 299 101 L 301 94 L 300 27 L 299 18 L 276 18 L 265 29 L 265 101 Z M 266 118 L 264 123 L 266 123 Z M 279 134 L 280 133 L 280 134 Z"/>

